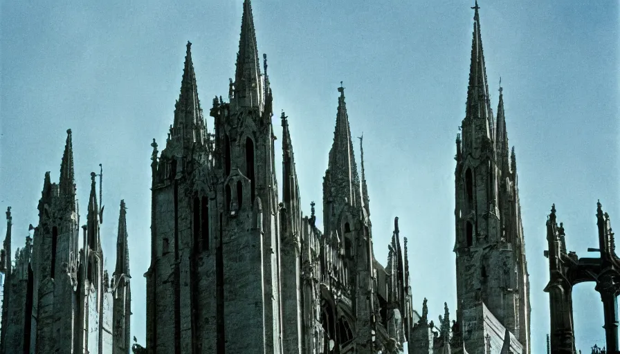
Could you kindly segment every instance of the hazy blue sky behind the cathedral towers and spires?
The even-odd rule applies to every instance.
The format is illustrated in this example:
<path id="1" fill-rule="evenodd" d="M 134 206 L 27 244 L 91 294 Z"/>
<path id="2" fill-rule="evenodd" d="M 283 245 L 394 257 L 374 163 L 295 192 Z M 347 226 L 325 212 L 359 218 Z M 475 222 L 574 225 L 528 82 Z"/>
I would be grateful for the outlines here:
<path id="1" fill-rule="evenodd" d="M 188 40 L 203 109 L 208 112 L 214 95 L 226 97 L 242 1 L 0 3 L 0 209 L 13 208 L 14 248 L 38 221 L 45 171 L 59 178 L 71 128 L 82 210 L 89 174 L 103 164 L 101 231 L 109 270 L 120 199 L 127 203 L 131 332 L 144 343 L 150 143 L 156 138 L 163 146 L 172 124 Z M 253 1 L 259 50 L 268 55 L 275 131 L 281 136 L 284 109 L 304 212 L 317 201 L 321 215 L 343 80 L 352 133 L 365 136 L 375 255 L 386 262 L 399 216 L 401 235 L 410 241 L 414 304 L 420 308 L 428 297 L 432 319 L 443 314 L 444 301 L 453 314 L 456 304 L 453 158 L 465 114 L 471 6 L 473 0 Z M 598 245 L 597 198 L 620 227 L 619 5 L 481 0 L 480 7 L 491 100 L 496 108 L 501 75 L 509 140 L 516 145 L 532 348 L 544 353 L 549 298 L 542 289 L 549 275 L 542 251 L 551 203 L 565 223 L 568 248 L 580 256 Z M 603 343 L 602 304 L 593 288 L 581 284 L 574 291 L 583 350 Z"/>

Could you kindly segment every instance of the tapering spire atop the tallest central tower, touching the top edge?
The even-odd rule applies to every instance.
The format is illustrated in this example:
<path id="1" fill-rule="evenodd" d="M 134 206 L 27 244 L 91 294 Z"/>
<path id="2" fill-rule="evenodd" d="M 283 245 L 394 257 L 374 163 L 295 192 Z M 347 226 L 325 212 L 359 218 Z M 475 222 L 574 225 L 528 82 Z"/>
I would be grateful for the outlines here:
<path id="1" fill-rule="evenodd" d="M 256 32 L 250 0 L 244 0 L 244 15 L 241 19 L 241 37 L 239 38 L 239 53 L 237 53 L 234 92 L 235 97 L 233 101 L 238 106 L 262 108 L 264 104 L 260 61 L 256 46 Z"/>

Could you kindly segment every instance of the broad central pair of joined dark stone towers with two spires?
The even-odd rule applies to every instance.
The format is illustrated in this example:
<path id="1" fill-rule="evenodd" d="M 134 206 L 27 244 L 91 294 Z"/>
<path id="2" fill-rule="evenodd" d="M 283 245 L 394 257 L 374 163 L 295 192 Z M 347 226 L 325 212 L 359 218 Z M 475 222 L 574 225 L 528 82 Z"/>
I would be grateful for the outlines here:
<path id="1" fill-rule="evenodd" d="M 161 156 L 152 145 L 147 348 L 281 353 L 275 135 L 250 1 L 244 1 L 230 102 L 213 100 L 213 135 L 203 118 L 190 48 L 188 43 Z"/>

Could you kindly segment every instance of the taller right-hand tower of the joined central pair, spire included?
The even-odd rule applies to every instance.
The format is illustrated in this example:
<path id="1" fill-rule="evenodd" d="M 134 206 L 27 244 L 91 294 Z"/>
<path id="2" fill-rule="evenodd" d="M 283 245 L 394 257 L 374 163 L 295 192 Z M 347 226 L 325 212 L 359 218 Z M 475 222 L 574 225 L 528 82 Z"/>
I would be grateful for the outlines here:
<path id="1" fill-rule="evenodd" d="M 215 171 L 221 176 L 216 245 L 219 315 L 230 353 L 281 353 L 280 233 L 271 88 L 260 71 L 249 0 L 244 1 L 230 103 L 216 102 Z M 235 284 L 233 286 L 233 284 Z M 244 315 L 239 316 L 240 313 Z M 223 353 L 223 352 L 222 352 Z"/>

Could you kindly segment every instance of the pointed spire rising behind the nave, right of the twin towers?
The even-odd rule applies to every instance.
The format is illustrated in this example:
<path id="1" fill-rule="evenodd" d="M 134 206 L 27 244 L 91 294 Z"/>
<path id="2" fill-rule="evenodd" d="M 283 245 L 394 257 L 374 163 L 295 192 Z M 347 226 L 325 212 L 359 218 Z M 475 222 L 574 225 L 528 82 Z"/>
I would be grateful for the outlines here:
<path id="1" fill-rule="evenodd" d="M 334 143 L 329 150 L 329 162 L 323 180 L 323 203 L 325 203 L 323 213 L 326 225 L 336 223 L 336 218 L 345 205 L 361 206 L 360 182 L 342 82 L 338 92 L 340 97 L 338 97 Z M 325 231 L 329 232 L 329 227 Z"/>

